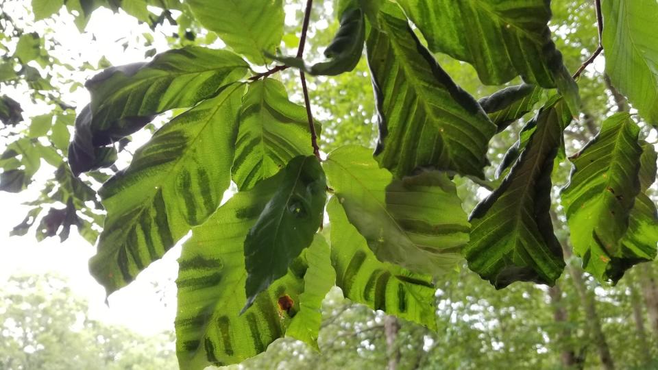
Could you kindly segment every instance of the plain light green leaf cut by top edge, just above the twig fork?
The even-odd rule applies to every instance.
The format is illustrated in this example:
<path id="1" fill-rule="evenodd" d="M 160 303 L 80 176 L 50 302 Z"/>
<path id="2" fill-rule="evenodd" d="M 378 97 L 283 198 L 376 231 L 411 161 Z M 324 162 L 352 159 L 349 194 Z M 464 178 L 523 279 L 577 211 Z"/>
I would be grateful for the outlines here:
<path id="1" fill-rule="evenodd" d="M 263 52 L 273 54 L 283 37 L 281 0 L 189 0 L 199 23 L 217 32 L 236 53 L 256 64 L 267 64 Z"/>

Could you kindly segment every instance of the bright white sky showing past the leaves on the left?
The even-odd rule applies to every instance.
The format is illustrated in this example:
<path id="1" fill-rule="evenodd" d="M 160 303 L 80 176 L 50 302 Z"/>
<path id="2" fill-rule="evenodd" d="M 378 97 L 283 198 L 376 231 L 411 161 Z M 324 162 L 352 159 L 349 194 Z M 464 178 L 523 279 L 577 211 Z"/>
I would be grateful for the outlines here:
<path id="1" fill-rule="evenodd" d="M 23 14 L 22 3 L 10 1 L 3 4 L 3 12 L 14 16 Z M 138 25 L 137 21 L 125 14 L 114 14 L 110 10 L 97 10 L 88 25 L 87 34 L 81 35 L 73 24 L 73 17 L 60 13 L 56 20 L 39 21 L 34 29 L 25 28 L 26 32 L 37 31 L 43 34 L 45 27 L 51 27 L 62 46 L 51 55 L 62 61 L 75 58 L 78 65 L 82 61 L 92 64 L 105 56 L 113 65 L 127 64 L 144 60 L 145 48 L 123 49 L 125 40 L 134 42 L 136 35 L 151 33 L 146 25 Z M 161 28 L 160 28 L 161 29 Z M 167 30 L 167 32 L 175 30 Z M 95 40 L 91 33 L 95 35 Z M 170 33 L 171 34 L 171 33 Z M 154 45 L 159 52 L 169 49 L 164 34 L 156 32 Z M 78 57 L 80 55 L 80 57 Z M 84 78 L 84 77 L 83 77 Z M 82 82 L 82 81 L 81 81 Z M 3 93 L 11 94 L 10 91 Z M 49 112 L 45 106 L 34 106 L 29 99 L 22 99 L 21 106 L 24 117 Z M 78 89 L 74 95 L 66 95 L 67 101 L 73 102 L 79 109 L 88 102 L 88 93 Z M 0 149 L 4 143 L 0 143 Z M 52 167 L 42 163 L 42 170 L 54 171 Z M 39 175 L 39 174 L 38 174 Z M 44 175 L 41 172 L 41 175 Z M 59 238 L 47 238 L 37 243 L 34 229 L 24 237 L 10 237 L 12 227 L 23 220 L 27 213 L 23 201 L 33 200 L 36 195 L 34 188 L 19 195 L 0 192 L 0 284 L 10 275 L 56 273 L 67 277 L 75 293 L 88 299 L 90 316 L 108 323 L 126 325 L 143 334 L 154 334 L 161 330 L 173 330 L 175 317 L 175 277 L 178 272 L 176 258 L 180 248 L 172 249 L 162 260 L 155 262 L 137 280 L 110 296 L 105 304 L 105 292 L 88 272 L 88 259 L 95 254 L 95 246 L 89 245 L 84 239 L 71 232 L 71 238 L 60 244 Z"/>

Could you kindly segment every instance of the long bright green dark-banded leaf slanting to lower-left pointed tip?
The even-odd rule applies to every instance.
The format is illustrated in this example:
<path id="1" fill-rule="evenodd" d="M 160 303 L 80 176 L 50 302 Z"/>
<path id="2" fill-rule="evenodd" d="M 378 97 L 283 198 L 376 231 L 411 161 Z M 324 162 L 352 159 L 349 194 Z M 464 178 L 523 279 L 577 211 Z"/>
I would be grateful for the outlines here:
<path id="1" fill-rule="evenodd" d="M 244 85 L 164 125 L 99 190 L 108 217 L 90 270 L 108 295 L 215 212 L 230 184 Z"/>

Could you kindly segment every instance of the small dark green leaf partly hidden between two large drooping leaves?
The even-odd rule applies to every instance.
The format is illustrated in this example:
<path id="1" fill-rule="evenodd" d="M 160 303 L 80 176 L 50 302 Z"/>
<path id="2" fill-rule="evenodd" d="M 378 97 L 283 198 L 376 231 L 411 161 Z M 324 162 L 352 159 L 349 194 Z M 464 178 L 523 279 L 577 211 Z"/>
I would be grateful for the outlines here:
<path id="1" fill-rule="evenodd" d="M 491 122 L 498 126 L 496 132 L 502 132 L 511 123 L 531 112 L 543 93 L 544 90 L 537 86 L 522 84 L 496 91 L 478 100 L 478 103 L 489 114 Z"/>

